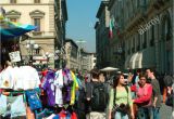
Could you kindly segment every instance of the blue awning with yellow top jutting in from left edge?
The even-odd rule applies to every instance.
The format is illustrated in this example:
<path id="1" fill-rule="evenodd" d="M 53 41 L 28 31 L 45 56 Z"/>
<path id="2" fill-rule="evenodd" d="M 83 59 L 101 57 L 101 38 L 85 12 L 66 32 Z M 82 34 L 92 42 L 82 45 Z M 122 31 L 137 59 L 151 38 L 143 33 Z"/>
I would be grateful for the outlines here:
<path id="1" fill-rule="evenodd" d="M 28 31 L 35 30 L 37 27 L 28 24 L 20 24 L 8 19 L 0 19 L 0 37 L 2 40 L 22 36 Z"/>

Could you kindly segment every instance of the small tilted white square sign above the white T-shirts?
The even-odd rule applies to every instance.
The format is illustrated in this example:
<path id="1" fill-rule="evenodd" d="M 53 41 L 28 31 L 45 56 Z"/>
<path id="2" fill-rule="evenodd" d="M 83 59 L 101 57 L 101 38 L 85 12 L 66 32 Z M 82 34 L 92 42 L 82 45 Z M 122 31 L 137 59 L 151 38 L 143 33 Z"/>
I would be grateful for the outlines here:
<path id="1" fill-rule="evenodd" d="M 21 61 L 20 51 L 11 52 L 11 53 L 9 53 L 9 56 L 10 56 L 10 60 L 12 63 Z"/>

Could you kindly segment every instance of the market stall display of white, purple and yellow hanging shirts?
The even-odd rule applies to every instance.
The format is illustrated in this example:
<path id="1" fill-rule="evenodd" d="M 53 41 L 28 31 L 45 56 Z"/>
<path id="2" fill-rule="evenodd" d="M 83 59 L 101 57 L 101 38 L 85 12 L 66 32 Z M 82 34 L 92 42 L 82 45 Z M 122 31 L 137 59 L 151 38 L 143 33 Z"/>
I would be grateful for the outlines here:
<path id="1" fill-rule="evenodd" d="M 77 119 L 73 106 L 80 87 L 66 68 L 45 70 L 39 79 L 30 66 L 9 66 L 0 72 L 1 119 Z"/>

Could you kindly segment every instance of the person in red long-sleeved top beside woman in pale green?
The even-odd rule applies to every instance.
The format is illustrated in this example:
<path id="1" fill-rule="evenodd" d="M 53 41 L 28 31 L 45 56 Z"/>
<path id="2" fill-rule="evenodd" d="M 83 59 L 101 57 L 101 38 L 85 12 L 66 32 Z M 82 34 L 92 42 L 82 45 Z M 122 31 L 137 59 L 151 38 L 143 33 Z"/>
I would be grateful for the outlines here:
<path id="1" fill-rule="evenodd" d="M 136 98 L 133 100 L 134 104 L 137 105 L 137 119 L 152 119 L 152 85 L 147 83 L 145 74 L 139 75 L 139 87 L 134 84 L 130 89 L 136 92 Z"/>

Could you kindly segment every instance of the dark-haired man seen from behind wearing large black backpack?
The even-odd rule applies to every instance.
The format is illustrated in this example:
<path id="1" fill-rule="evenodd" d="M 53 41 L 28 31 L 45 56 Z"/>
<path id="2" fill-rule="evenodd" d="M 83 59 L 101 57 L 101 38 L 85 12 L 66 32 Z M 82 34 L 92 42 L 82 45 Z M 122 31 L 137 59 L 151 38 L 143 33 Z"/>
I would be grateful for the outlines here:
<path id="1" fill-rule="evenodd" d="M 105 119 L 105 108 L 108 102 L 107 88 L 103 82 L 99 80 L 100 71 L 92 69 L 91 81 L 86 84 L 86 100 L 89 107 L 87 119 Z"/>

